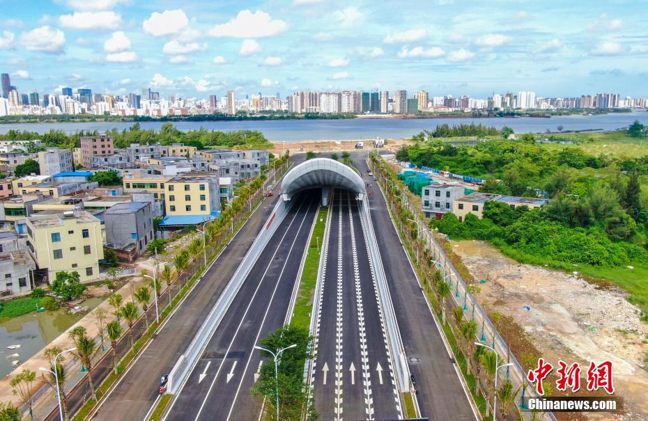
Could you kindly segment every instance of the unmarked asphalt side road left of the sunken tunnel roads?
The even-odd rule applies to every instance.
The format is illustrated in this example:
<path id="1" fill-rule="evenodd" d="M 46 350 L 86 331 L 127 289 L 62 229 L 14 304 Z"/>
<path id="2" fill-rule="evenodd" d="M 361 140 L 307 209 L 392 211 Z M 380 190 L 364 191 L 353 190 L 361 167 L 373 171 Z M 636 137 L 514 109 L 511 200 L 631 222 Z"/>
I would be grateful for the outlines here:
<path id="1" fill-rule="evenodd" d="M 291 157 L 291 161 L 295 162 L 295 165 L 299 164 L 304 161 L 304 154 Z M 144 420 L 158 397 L 160 376 L 171 371 L 178 357 L 196 335 L 209 309 L 219 299 L 238 264 L 272 213 L 278 200 L 279 186 L 275 188 L 274 193 L 274 197 L 261 203 L 261 207 L 242 226 L 203 279 L 196 283 L 175 314 L 167 320 L 155 339 L 123 375 L 118 386 L 109 392 L 95 420 Z M 83 392 L 82 388 L 79 389 Z M 82 399 L 79 399 L 79 403 L 81 402 Z"/>

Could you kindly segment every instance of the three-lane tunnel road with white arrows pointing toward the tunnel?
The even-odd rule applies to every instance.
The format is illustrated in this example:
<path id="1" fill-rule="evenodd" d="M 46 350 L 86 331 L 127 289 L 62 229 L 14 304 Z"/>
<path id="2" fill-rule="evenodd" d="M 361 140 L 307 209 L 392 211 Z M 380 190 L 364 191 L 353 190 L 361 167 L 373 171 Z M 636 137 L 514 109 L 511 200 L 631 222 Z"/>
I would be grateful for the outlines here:
<path id="1" fill-rule="evenodd" d="M 311 381 L 323 420 L 402 418 L 358 204 L 336 189 Z"/>

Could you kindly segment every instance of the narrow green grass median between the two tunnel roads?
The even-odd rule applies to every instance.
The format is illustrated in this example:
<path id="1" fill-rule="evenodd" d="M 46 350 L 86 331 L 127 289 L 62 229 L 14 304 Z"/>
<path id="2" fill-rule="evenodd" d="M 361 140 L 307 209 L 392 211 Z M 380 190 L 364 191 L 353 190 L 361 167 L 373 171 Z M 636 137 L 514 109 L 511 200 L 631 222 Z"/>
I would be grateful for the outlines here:
<path id="1" fill-rule="evenodd" d="M 315 228 L 308 248 L 308 254 L 304 261 L 304 270 L 300 280 L 299 294 L 295 301 L 295 310 L 291 324 L 300 328 L 308 329 L 311 323 L 311 311 L 313 310 L 313 294 L 317 284 L 317 271 L 320 265 L 322 241 L 326 225 L 328 207 L 321 207 L 317 214 Z"/>

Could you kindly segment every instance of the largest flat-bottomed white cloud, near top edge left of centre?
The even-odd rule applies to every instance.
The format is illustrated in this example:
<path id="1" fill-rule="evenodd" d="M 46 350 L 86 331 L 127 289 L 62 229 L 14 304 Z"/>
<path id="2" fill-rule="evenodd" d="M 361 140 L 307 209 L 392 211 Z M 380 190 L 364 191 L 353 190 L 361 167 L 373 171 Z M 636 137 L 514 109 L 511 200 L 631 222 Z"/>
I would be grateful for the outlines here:
<path id="1" fill-rule="evenodd" d="M 272 20 L 270 15 L 262 10 L 256 10 L 254 13 L 250 10 L 241 10 L 234 19 L 226 24 L 216 25 L 210 29 L 209 35 L 213 37 L 263 38 L 277 35 L 286 29 L 288 29 L 286 22 L 279 19 Z"/>

